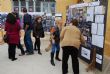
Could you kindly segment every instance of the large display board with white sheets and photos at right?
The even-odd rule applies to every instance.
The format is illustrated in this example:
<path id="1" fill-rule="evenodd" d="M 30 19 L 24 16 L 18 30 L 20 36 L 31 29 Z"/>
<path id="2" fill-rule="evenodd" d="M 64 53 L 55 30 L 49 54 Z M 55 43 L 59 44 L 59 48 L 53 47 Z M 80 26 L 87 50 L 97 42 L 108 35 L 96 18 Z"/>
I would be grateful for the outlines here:
<path id="1" fill-rule="evenodd" d="M 78 28 L 84 35 L 87 44 L 87 46 L 81 45 L 79 57 L 90 63 L 93 58 L 93 49 L 96 48 L 96 68 L 102 70 L 107 0 L 71 5 L 69 10 L 71 13 L 71 17 L 69 17 L 79 21 Z"/>

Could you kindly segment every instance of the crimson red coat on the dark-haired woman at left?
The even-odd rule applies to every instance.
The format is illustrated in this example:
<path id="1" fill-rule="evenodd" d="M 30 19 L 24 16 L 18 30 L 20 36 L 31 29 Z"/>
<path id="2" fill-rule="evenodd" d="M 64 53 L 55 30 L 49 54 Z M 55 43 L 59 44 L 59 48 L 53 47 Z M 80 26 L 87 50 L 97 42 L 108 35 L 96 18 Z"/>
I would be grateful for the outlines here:
<path id="1" fill-rule="evenodd" d="M 9 44 L 18 44 L 20 41 L 20 25 L 18 22 L 15 24 L 5 23 L 5 31 L 8 36 Z"/>

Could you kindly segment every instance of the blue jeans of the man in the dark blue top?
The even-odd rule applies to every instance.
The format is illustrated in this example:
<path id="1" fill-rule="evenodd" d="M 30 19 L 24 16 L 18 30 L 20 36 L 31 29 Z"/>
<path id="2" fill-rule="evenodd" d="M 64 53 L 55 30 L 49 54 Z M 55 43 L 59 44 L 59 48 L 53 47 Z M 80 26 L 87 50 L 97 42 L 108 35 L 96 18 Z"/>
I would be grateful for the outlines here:
<path id="1" fill-rule="evenodd" d="M 31 30 L 27 30 L 24 36 L 24 44 L 28 53 L 33 53 L 33 43 L 31 39 Z"/>

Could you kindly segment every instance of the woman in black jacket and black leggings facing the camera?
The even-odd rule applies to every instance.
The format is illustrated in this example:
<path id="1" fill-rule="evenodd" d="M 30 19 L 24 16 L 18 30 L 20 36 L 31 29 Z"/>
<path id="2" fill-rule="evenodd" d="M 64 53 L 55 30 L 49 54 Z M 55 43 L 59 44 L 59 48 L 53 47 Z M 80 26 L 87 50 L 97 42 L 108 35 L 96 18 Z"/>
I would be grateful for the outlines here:
<path id="1" fill-rule="evenodd" d="M 38 54 L 42 55 L 40 51 L 40 45 L 41 45 L 40 38 L 44 37 L 44 29 L 42 26 L 42 17 L 40 16 L 36 17 L 34 21 L 33 36 L 35 37 L 34 50 L 38 50 Z"/>

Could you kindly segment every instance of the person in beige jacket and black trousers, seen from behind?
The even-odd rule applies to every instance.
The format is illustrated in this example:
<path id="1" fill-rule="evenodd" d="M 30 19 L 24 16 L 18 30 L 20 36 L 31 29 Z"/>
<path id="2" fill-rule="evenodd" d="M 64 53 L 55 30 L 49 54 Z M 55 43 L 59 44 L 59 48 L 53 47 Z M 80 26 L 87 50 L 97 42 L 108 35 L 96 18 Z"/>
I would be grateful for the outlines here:
<path id="1" fill-rule="evenodd" d="M 76 19 L 71 21 L 69 26 L 62 29 L 60 39 L 61 47 L 63 49 L 62 55 L 62 74 L 68 73 L 68 58 L 72 57 L 72 67 L 74 74 L 79 74 L 78 49 L 80 44 L 85 44 L 85 40 L 80 30 L 77 28 L 78 21 Z"/>

